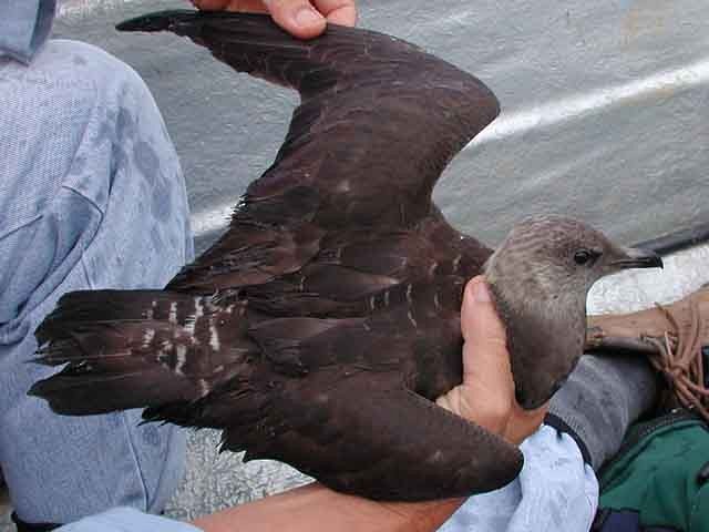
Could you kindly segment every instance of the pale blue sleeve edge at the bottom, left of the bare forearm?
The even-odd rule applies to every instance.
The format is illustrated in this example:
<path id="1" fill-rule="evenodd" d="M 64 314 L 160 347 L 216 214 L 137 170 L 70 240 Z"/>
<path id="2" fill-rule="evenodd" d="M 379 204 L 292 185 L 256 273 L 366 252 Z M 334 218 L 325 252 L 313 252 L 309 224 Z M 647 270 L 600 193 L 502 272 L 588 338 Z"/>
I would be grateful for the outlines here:
<path id="1" fill-rule="evenodd" d="M 134 508 L 115 508 L 65 524 L 56 532 L 201 532 L 192 524 L 143 513 Z"/>

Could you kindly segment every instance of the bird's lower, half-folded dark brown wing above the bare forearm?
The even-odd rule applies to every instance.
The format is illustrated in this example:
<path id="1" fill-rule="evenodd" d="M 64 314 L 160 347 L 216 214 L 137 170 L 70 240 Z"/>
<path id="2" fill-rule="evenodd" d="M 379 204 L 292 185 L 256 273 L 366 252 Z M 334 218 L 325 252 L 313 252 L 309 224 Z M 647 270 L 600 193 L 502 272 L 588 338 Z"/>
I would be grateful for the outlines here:
<path id="1" fill-rule="evenodd" d="M 282 460 L 336 490 L 397 500 L 467 497 L 506 484 L 522 467 L 513 446 L 391 375 L 318 378 L 322 386 L 284 390 L 277 415 L 258 427 L 273 436 L 254 434 L 247 459 Z M 227 429 L 225 444 L 242 437 Z"/>

